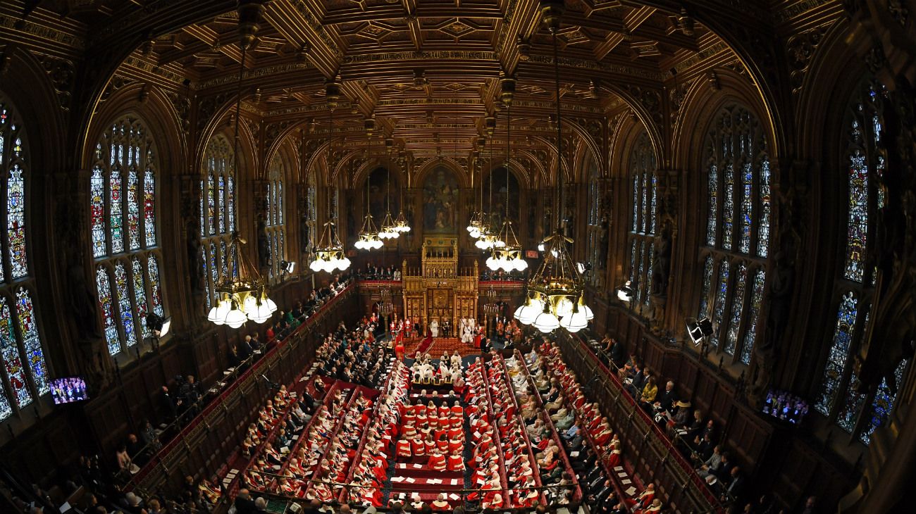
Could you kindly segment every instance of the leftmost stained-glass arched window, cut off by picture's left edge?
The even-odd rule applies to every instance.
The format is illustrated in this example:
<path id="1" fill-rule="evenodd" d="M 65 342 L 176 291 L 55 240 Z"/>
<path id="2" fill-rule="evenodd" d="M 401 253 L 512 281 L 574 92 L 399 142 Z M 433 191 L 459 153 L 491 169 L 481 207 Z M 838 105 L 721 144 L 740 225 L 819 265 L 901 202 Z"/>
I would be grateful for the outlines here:
<path id="1" fill-rule="evenodd" d="M 48 387 L 48 364 L 33 304 L 28 252 L 31 155 L 26 129 L 0 92 L 0 422 L 35 403 Z"/>

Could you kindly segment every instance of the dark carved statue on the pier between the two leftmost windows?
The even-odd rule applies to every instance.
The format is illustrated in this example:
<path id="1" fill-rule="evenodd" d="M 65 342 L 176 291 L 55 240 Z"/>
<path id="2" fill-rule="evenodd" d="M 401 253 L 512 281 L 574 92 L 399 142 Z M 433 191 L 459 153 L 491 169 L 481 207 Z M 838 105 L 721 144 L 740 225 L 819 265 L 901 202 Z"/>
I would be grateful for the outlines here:
<path id="1" fill-rule="evenodd" d="M 86 264 L 78 236 L 82 233 L 79 221 L 82 217 L 71 199 L 61 200 L 57 206 L 55 226 L 68 262 L 67 298 L 73 320 L 73 335 L 81 354 L 81 372 L 86 377 L 90 393 L 103 391 L 111 382 L 114 366 L 100 324 L 99 300 L 95 288 L 86 280 Z"/>

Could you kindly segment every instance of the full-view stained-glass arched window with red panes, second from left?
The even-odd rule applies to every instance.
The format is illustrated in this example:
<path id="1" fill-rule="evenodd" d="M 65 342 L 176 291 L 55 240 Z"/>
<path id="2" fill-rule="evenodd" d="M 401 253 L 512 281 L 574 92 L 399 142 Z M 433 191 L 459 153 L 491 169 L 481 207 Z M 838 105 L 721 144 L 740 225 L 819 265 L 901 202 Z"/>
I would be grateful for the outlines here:
<path id="1" fill-rule="evenodd" d="M 146 123 L 126 115 L 108 125 L 95 145 L 89 178 L 93 257 L 97 262 L 105 339 L 118 355 L 145 337 L 153 304 L 151 277 L 146 273 L 158 257 L 158 153 Z M 157 291 L 161 294 L 157 280 Z M 158 298 L 160 316 L 165 316 Z"/>

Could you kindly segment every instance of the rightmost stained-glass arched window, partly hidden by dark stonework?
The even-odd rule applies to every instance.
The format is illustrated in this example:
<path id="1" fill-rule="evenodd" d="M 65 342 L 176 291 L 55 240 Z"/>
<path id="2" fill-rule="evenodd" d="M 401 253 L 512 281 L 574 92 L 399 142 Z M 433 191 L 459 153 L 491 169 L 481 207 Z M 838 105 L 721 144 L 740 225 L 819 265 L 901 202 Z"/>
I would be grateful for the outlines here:
<path id="1" fill-rule="evenodd" d="M 846 108 L 840 155 L 846 198 L 841 213 L 845 221 L 844 259 L 834 288 L 835 327 L 814 395 L 815 410 L 850 434 L 851 440 L 862 444 L 869 444 L 875 430 L 887 423 L 909 365 L 907 359 L 900 360 L 892 373 L 882 377 L 876 391 L 860 387 L 853 366 L 853 356 L 868 334 L 877 273 L 868 252 L 878 211 L 885 202 L 885 102 L 884 86 L 864 80 Z"/>

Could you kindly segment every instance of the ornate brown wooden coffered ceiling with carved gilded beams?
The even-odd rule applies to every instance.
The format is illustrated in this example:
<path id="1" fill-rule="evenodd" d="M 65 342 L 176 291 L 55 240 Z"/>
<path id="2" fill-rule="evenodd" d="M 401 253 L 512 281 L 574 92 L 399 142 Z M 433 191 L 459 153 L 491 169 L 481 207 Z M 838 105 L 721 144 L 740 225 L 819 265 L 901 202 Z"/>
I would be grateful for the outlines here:
<path id="1" fill-rule="evenodd" d="M 654 117 L 660 133 L 671 70 L 736 59 L 686 14 L 701 2 L 566 0 L 557 36 L 564 117 L 577 118 L 598 139 L 607 119 L 633 109 L 644 122 Z M 487 116 L 496 115 L 495 143 L 505 145 L 503 74 L 518 81 L 514 141 L 532 152 L 555 143 L 552 39 L 540 24 L 538 0 L 242 3 L 263 5 L 244 74 L 245 111 L 260 122 L 288 131 L 308 127 L 307 134 L 321 137 L 328 123 L 325 83 L 336 80 L 343 108 L 335 112 L 335 132 L 345 139 L 365 141 L 365 119 L 372 117 L 409 155 L 469 156 L 479 149 Z M 70 4 L 82 6 L 69 14 L 87 24 L 87 55 L 116 56 L 119 43 L 146 35 L 115 77 L 141 74 L 193 91 L 199 102 L 232 102 L 242 57 L 234 0 Z M 98 19 L 85 5 L 94 5 Z M 752 11 L 728 16 L 752 19 Z M 589 119 L 599 123 L 586 129 Z"/>

